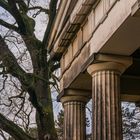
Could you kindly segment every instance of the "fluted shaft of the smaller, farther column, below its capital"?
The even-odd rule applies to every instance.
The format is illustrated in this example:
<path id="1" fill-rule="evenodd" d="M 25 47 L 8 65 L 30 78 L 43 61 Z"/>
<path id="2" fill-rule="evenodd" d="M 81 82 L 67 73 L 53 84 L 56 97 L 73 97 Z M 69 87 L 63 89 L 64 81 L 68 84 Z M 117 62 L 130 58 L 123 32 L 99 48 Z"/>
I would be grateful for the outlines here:
<path id="1" fill-rule="evenodd" d="M 64 139 L 85 140 L 85 104 L 71 101 L 64 103 Z"/>

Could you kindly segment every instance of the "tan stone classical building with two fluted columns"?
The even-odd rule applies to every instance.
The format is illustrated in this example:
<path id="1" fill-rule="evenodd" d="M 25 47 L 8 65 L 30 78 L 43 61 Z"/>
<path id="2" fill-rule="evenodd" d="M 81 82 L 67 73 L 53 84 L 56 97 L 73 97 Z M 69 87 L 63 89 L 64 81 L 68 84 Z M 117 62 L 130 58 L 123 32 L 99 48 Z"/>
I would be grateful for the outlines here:
<path id="1" fill-rule="evenodd" d="M 61 61 L 64 140 L 121 140 L 121 101 L 140 101 L 140 0 L 61 0 L 49 42 Z"/>

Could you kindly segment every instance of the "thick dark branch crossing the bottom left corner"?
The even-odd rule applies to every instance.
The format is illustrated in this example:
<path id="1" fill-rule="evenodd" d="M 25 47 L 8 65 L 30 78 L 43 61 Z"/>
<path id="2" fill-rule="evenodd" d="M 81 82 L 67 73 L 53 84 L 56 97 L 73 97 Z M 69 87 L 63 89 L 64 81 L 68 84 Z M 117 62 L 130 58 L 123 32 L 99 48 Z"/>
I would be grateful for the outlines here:
<path id="1" fill-rule="evenodd" d="M 35 140 L 27 135 L 19 126 L 13 123 L 11 120 L 6 119 L 0 113 L 0 128 L 10 134 L 16 140 Z"/>

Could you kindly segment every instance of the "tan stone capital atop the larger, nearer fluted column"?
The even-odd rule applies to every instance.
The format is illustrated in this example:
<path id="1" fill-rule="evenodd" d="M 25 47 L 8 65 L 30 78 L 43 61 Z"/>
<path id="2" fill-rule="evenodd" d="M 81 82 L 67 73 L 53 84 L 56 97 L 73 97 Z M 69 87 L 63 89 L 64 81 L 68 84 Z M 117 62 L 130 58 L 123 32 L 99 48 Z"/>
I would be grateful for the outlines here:
<path id="1" fill-rule="evenodd" d="M 122 74 L 131 64 L 131 57 L 117 57 L 116 55 L 99 54 L 96 56 L 96 63 L 91 64 L 87 68 L 87 71 L 90 75 L 103 70 L 113 70 Z"/>

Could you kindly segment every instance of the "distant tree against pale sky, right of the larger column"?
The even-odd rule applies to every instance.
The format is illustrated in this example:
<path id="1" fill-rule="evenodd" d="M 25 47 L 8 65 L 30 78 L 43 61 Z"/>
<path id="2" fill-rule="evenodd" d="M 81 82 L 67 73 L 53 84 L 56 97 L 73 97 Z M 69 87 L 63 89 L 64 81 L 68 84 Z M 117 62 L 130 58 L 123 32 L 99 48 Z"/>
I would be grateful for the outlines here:
<path id="1" fill-rule="evenodd" d="M 134 103 L 122 104 L 124 140 L 140 139 L 140 107 Z"/>

